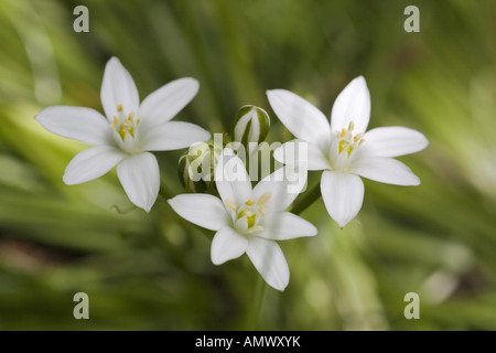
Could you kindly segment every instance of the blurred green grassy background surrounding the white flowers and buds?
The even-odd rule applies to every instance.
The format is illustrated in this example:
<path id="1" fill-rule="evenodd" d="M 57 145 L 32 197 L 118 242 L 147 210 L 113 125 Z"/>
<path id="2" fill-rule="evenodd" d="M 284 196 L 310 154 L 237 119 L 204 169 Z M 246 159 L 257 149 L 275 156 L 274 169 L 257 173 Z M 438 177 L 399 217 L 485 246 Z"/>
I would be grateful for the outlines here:
<path id="1" fill-rule="evenodd" d="M 75 33 L 73 9 L 89 9 Z M 403 10 L 420 9 L 420 33 Z M 0 2 L 0 330 L 496 330 L 496 1 L 177 0 Z M 269 111 L 269 142 L 290 133 L 265 92 L 285 88 L 326 115 L 364 75 L 370 127 L 406 126 L 430 146 L 402 157 L 417 188 L 365 181 L 343 231 L 322 200 L 301 216 L 319 235 L 280 242 L 284 292 L 265 291 L 246 256 L 214 266 L 211 239 L 163 199 L 150 214 L 115 171 L 67 186 L 85 148 L 33 117 L 51 105 L 101 111 L 116 55 L 141 98 L 201 82 L 179 120 L 226 132 L 245 104 Z M 159 152 L 170 195 L 183 151 Z M 310 188 L 320 180 L 311 172 Z M 73 296 L 89 296 L 75 320 Z M 407 292 L 420 320 L 407 320 Z"/>

